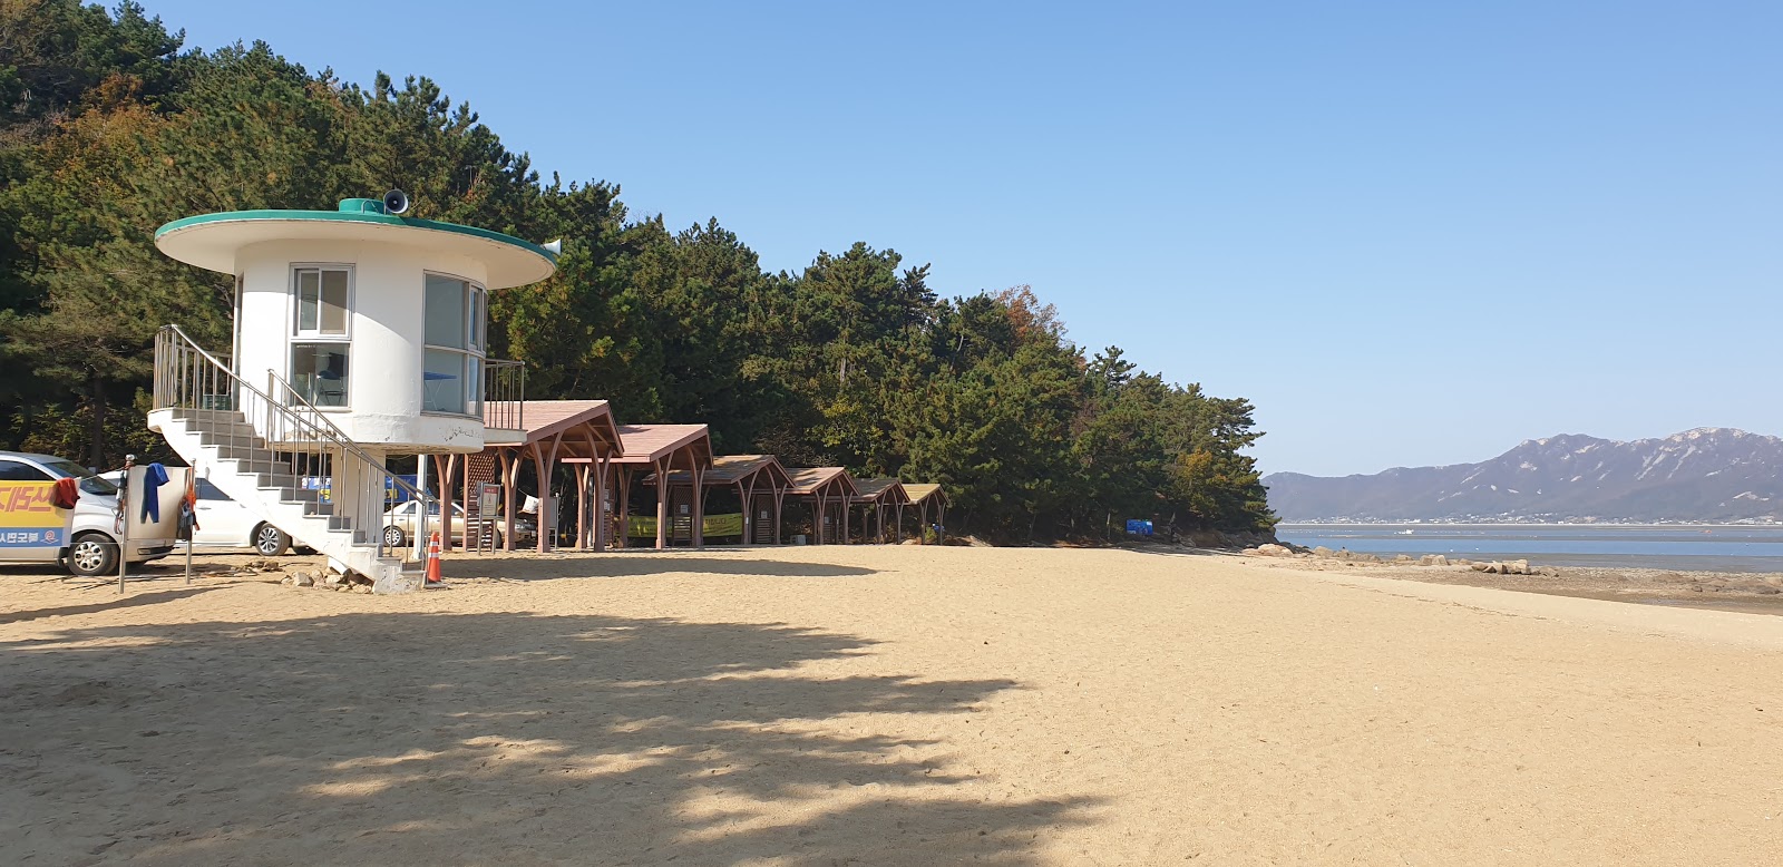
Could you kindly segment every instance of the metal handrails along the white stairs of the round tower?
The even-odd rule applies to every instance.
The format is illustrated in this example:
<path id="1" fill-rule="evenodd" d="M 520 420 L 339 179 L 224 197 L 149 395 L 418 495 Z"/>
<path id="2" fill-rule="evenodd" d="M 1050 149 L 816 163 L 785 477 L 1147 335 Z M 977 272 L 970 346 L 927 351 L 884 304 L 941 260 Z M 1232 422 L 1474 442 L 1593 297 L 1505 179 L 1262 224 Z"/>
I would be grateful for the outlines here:
<path id="1" fill-rule="evenodd" d="M 273 462 L 266 467 L 267 473 L 289 471 L 292 483 L 298 485 L 307 478 L 328 478 L 330 507 L 333 507 L 330 510 L 342 516 L 339 507 L 348 507 L 344 514 L 353 523 L 353 544 L 374 546 L 378 557 L 401 557 L 398 548 L 387 544 L 383 537 L 385 489 L 394 485 L 419 501 L 421 516 L 417 517 L 421 521 L 417 524 L 421 526 L 424 526 L 424 516 L 431 512 L 433 498 L 358 448 L 289 382 L 273 371 L 266 371 L 266 375 L 267 391 L 282 389 L 287 400 L 275 400 L 267 391 L 237 376 L 216 355 L 198 346 L 178 325 L 164 325 L 155 334 L 153 409 L 241 412 L 242 419 L 259 430 L 244 435 L 230 426 L 225 437 L 230 448 L 241 446 L 242 439 L 253 446 L 251 441 L 257 434 L 273 453 Z M 262 407 L 264 426 L 257 426 L 255 421 L 260 421 Z M 250 466 L 248 471 L 253 473 L 257 467 Z M 355 480 L 374 482 L 374 485 L 353 483 Z M 341 491 L 335 482 L 349 491 Z M 342 492 L 351 501 L 342 501 Z"/>

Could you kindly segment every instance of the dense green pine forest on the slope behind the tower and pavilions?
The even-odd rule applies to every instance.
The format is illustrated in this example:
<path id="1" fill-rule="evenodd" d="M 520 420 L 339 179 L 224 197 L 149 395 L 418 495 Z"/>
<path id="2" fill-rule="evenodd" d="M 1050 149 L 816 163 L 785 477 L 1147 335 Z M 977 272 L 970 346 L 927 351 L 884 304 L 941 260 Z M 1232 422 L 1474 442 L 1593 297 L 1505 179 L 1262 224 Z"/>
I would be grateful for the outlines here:
<path id="1" fill-rule="evenodd" d="M 940 482 L 949 530 L 998 542 L 1275 523 L 1246 400 L 1086 353 L 1027 285 L 949 296 L 865 241 L 768 273 L 717 218 L 633 218 L 619 184 L 540 171 L 426 77 L 184 41 L 132 2 L 0 2 L 0 448 L 168 455 L 143 426 L 153 334 L 226 348 L 232 282 L 160 255 L 162 223 L 399 187 L 408 216 L 563 239 L 553 278 L 492 293 L 490 357 L 526 362 L 528 398 Z"/>

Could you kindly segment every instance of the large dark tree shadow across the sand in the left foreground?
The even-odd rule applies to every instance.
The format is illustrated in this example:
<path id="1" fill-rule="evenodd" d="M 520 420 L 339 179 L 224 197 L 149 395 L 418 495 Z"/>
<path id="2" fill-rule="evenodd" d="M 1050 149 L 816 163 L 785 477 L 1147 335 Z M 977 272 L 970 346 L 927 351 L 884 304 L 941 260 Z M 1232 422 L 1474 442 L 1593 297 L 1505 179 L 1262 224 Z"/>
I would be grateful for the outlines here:
<path id="1" fill-rule="evenodd" d="M 0 853 L 1020 865 L 1043 830 L 1095 806 L 961 790 L 984 778 L 922 717 L 1018 685 L 813 673 L 870 646 L 783 624 L 530 614 L 0 640 Z M 868 712 L 900 715 L 875 719 L 908 735 L 836 724 Z"/>

